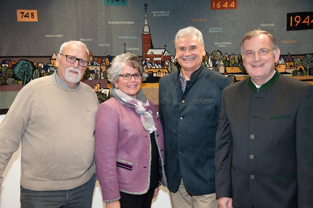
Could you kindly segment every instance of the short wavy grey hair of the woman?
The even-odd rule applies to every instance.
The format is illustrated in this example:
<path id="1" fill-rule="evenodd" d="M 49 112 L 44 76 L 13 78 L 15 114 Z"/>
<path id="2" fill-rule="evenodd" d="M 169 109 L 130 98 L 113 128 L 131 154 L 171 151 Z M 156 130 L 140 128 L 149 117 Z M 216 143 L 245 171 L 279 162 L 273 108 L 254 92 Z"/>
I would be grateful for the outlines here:
<path id="1" fill-rule="evenodd" d="M 115 56 L 112 60 L 112 65 L 108 69 L 108 80 L 115 87 L 114 82 L 118 82 L 119 75 L 125 65 L 131 66 L 138 70 L 142 74 L 141 81 L 146 81 L 148 76 L 143 68 L 142 61 L 135 55 L 131 53 L 122 53 L 118 56 Z"/>

